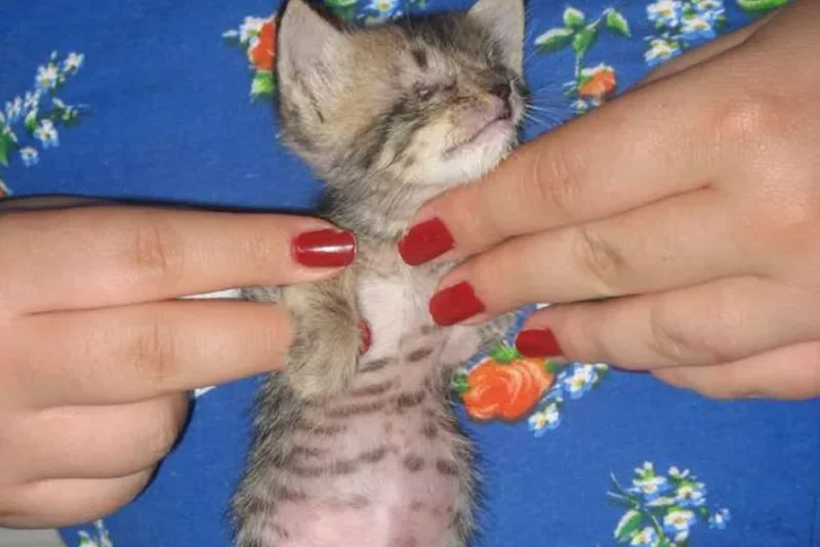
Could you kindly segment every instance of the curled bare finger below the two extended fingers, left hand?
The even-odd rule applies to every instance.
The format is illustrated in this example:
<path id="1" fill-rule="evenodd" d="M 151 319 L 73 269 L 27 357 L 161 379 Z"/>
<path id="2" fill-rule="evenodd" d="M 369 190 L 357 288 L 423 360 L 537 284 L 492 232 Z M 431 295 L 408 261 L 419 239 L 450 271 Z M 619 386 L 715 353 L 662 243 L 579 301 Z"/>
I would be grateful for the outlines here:
<path id="1" fill-rule="evenodd" d="M 6 469 L 17 480 L 125 477 L 164 458 L 187 418 L 185 394 L 48 409 L 9 424 L 16 441 L 0 446 L 0 459 L 21 463 Z"/>

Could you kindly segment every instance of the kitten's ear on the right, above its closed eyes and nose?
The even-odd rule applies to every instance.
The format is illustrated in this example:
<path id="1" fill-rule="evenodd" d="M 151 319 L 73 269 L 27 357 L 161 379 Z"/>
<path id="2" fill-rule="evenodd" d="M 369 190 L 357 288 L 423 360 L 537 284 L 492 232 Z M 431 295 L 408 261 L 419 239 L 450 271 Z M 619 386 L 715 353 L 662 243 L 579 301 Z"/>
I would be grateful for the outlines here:
<path id="1" fill-rule="evenodd" d="M 490 30 L 510 66 L 521 72 L 524 59 L 523 0 L 478 0 L 467 15 Z"/>

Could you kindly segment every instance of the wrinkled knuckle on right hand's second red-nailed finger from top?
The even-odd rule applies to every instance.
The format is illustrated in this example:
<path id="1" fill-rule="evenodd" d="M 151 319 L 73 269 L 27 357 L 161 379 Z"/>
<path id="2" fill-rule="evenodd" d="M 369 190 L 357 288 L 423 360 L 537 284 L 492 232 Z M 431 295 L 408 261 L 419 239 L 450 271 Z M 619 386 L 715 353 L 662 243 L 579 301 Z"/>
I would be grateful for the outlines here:
<path id="1" fill-rule="evenodd" d="M 617 249 L 588 225 L 573 230 L 576 264 L 590 276 L 598 296 L 613 296 L 626 264 Z"/>

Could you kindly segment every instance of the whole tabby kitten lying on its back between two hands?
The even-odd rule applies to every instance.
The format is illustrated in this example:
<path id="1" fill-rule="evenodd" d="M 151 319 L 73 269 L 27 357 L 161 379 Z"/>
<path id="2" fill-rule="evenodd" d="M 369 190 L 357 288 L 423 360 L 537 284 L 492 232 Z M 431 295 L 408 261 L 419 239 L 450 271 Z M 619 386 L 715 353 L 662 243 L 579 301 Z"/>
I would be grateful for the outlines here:
<path id="1" fill-rule="evenodd" d="M 427 303 L 453 264 L 410 268 L 397 242 L 424 201 L 517 142 L 522 0 L 340 27 L 288 2 L 278 106 L 285 142 L 326 180 L 326 217 L 357 234 L 358 257 L 321 283 L 245 291 L 285 305 L 297 336 L 259 397 L 236 545 L 464 547 L 474 477 L 449 379 L 511 321 L 435 326 Z M 360 356 L 362 319 L 372 346 Z"/>

